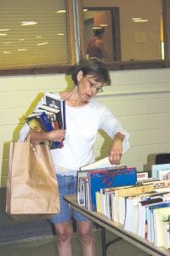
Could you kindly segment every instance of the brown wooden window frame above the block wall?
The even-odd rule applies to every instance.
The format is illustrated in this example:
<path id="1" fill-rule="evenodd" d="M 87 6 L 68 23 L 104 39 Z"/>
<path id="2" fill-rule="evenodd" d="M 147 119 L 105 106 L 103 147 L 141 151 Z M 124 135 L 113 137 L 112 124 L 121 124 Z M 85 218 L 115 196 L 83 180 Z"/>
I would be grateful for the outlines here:
<path id="1" fill-rule="evenodd" d="M 84 49 L 84 33 L 83 33 L 83 7 L 82 0 L 66 0 L 66 14 L 68 20 L 68 45 L 70 52 L 70 64 L 60 65 L 48 65 L 39 67 L 25 67 L 25 68 L 13 68 L 13 69 L 0 69 L 0 76 L 8 75 L 29 75 L 29 74 L 48 74 L 48 73 L 67 73 L 70 67 L 76 64 L 76 44 L 75 44 L 75 24 L 74 24 L 74 8 L 76 4 L 76 11 L 78 16 L 78 29 L 80 35 L 80 52 L 78 58 L 85 60 L 85 49 Z M 167 68 L 170 67 L 170 1 L 162 0 L 163 10 L 163 24 L 164 24 L 164 44 L 165 44 L 165 60 L 157 61 L 113 61 L 106 63 L 110 71 L 114 70 L 135 70 L 135 69 L 150 69 L 150 68 Z"/>

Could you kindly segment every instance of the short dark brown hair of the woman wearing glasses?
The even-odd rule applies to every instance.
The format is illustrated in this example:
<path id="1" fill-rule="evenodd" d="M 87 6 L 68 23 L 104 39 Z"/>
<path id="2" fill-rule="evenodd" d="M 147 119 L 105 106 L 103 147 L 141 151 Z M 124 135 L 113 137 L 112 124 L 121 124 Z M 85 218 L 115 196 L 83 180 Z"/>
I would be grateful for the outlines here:
<path id="1" fill-rule="evenodd" d="M 72 71 L 71 78 L 75 84 L 77 84 L 77 73 L 82 70 L 84 76 L 92 75 L 94 79 L 103 84 L 110 85 L 111 78 L 108 68 L 104 61 L 98 58 L 90 58 L 87 61 L 82 61 Z"/>

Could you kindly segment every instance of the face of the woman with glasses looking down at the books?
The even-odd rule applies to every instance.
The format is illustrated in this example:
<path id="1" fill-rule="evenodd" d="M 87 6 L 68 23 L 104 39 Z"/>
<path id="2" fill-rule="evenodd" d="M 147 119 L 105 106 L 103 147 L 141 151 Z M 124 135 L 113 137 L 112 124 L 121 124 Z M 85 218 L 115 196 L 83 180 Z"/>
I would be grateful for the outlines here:
<path id="1" fill-rule="evenodd" d="M 82 71 L 79 71 L 77 73 L 77 81 L 79 96 L 84 101 L 89 101 L 97 93 L 102 92 L 104 84 L 95 81 L 93 75 L 83 75 Z"/>

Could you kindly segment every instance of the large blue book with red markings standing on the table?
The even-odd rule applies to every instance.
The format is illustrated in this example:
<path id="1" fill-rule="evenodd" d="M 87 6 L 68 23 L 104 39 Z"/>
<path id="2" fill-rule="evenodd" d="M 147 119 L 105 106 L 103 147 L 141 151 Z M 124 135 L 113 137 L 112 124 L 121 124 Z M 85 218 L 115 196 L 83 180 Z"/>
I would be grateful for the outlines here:
<path id="1" fill-rule="evenodd" d="M 104 168 L 88 172 L 92 211 L 96 211 L 95 193 L 102 188 L 135 185 L 137 182 L 136 168 L 111 169 Z"/>

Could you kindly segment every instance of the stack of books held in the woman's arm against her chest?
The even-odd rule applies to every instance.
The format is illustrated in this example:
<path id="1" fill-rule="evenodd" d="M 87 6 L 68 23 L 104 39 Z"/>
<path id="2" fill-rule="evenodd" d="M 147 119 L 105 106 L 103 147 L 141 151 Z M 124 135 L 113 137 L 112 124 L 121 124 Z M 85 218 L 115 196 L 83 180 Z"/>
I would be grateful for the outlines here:
<path id="1" fill-rule="evenodd" d="M 65 125 L 65 100 L 54 93 L 47 92 L 44 95 L 44 104 L 36 108 L 26 117 L 26 123 L 31 130 L 43 132 L 54 129 L 66 129 Z M 49 148 L 62 148 L 63 142 L 48 142 Z"/>

